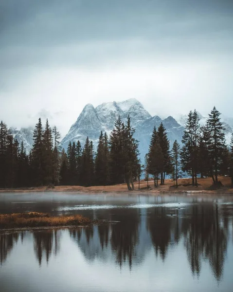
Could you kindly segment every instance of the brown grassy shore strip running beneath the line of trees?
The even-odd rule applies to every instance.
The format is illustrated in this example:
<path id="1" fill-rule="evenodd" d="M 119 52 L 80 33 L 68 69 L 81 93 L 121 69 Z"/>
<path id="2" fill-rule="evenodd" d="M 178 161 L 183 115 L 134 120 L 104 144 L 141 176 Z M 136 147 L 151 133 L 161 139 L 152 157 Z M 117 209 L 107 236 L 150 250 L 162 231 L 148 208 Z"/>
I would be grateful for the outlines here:
<path id="1" fill-rule="evenodd" d="M 140 182 L 140 189 L 138 189 L 138 182 L 134 183 L 135 191 L 137 192 L 152 192 L 155 194 L 162 193 L 210 193 L 210 194 L 233 194 L 233 188 L 231 188 L 231 178 L 230 177 L 219 177 L 219 181 L 223 184 L 223 187 L 217 190 L 211 189 L 213 184 L 212 178 L 198 179 L 198 186 L 190 185 L 192 179 L 179 179 L 179 187 L 174 187 L 174 182 L 172 180 L 165 180 L 164 185 L 159 185 L 154 187 L 154 182 L 149 181 L 147 188 L 147 182 Z M 65 186 L 55 186 L 53 188 L 48 187 L 32 187 L 32 188 L 15 188 L 15 189 L 0 189 L 0 192 L 46 192 L 46 191 L 55 191 L 55 192 L 101 192 L 101 193 L 111 193 L 111 192 L 129 192 L 127 185 L 116 184 L 108 186 L 78 186 L 78 185 L 65 185 Z"/>

